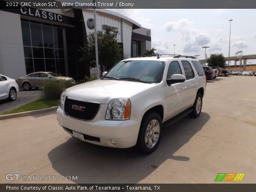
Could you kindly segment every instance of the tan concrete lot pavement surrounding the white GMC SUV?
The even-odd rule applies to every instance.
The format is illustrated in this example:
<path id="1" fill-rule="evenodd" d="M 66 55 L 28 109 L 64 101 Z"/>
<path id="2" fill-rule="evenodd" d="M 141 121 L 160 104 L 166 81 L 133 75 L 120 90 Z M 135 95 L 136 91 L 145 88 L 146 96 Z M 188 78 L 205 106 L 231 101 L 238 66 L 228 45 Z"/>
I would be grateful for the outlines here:
<path id="1" fill-rule="evenodd" d="M 79 142 L 56 114 L 0 122 L 0 183 L 214 183 L 218 173 L 256 181 L 256 78 L 208 81 L 199 118 L 169 128 L 150 155 Z M 78 180 L 6 180 L 6 174 L 77 176 Z"/>

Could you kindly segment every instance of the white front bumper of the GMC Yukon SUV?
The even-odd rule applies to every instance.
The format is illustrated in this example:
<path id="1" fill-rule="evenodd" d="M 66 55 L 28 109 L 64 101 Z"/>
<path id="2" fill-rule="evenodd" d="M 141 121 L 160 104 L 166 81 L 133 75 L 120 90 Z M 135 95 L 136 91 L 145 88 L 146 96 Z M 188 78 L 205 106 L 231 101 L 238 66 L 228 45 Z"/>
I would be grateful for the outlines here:
<path id="1" fill-rule="evenodd" d="M 62 108 L 59 107 L 57 109 L 57 120 L 60 126 L 71 136 L 73 136 L 72 131 L 84 134 L 86 142 L 114 148 L 135 146 L 141 119 L 105 120 L 107 106 L 102 104 L 95 118 L 91 121 L 66 116 Z M 116 144 L 112 144 L 111 140 L 114 140 Z"/>

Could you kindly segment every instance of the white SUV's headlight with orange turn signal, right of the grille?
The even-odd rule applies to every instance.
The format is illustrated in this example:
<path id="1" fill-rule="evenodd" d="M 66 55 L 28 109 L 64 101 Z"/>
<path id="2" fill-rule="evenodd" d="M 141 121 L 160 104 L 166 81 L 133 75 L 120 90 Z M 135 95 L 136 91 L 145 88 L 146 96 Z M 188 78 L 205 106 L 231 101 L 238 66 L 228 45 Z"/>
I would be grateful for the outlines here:
<path id="1" fill-rule="evenodd" d="M 117 98 L 110 101 L 106 112 L 106 120 L 130 119 L 131 103 L 128 98 Z"/>

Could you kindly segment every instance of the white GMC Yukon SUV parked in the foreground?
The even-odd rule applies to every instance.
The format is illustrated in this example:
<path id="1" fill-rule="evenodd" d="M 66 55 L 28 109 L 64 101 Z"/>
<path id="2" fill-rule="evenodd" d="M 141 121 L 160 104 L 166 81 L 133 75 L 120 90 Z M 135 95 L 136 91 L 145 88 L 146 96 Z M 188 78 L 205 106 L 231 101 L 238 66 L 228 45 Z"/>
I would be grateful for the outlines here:
<path id="1" fill-rule="evenodd" d="M 201 113 L 206 77 L 192 56 L 129 58 L 103 74 L 62 92 L 58 122 L 79 140 L 148 154 L 164 126 Z"/>

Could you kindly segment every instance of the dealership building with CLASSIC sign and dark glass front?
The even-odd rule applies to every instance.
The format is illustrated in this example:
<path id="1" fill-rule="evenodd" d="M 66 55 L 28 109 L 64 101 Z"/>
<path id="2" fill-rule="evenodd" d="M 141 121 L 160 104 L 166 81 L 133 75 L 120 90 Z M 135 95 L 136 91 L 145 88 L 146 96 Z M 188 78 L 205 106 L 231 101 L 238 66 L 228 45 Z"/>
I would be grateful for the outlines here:
<path id="1" fill-rule="evenodd" d="M 90 75 L 79 62 L 78 49 L 86 34 L 94 32 L 92 9 L 35 9 L 19 6 L 0 9 L 0 74 L 17 79 L 38 71 L 50 71 L 82 80 Z M 96 9 L 96 29 L 118 31 L 123 57 L 140 56 L 151 48 L 151 31 L 130 18 Z"/>

